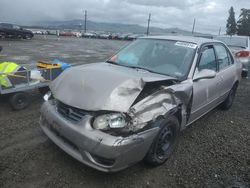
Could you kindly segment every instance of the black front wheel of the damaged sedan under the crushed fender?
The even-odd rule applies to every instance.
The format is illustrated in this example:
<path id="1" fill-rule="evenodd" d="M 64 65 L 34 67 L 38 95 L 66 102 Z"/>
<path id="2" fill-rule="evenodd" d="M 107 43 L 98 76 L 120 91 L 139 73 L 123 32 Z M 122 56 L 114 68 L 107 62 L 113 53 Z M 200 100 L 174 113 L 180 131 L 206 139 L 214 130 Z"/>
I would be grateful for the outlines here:
<path id="1" fill-rule="evenodd" d="M 161 117 L 155 124 L 160 127 L 160 131 L 144 158 L 144 162 L 151 166 L 162 165 L 168 160 L 174 151 L 180 132 L 179 121 L 172 115 L 167 118 Z"/>

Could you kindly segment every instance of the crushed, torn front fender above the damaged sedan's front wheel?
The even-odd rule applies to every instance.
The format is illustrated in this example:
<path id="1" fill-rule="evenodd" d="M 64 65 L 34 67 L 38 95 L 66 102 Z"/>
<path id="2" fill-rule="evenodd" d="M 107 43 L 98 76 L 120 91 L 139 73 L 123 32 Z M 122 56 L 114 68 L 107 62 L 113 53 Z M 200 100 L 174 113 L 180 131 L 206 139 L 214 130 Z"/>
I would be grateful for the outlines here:
<path id="1" fill-rule="evenodd" d="M 133 131 L 143 128 L 149 121 L 154 121 L 159 116 L 164 116 L 169 111 L 181 107 L 182 117 L 187 117 L 191 109 L 192 83 L 186 82 L 172 86 L 162 86 L 152 95 L 133 105 L 128 114 L 131 117 L 130 129 Z M 187 122 L 184 118 L 182 125 Z"/>

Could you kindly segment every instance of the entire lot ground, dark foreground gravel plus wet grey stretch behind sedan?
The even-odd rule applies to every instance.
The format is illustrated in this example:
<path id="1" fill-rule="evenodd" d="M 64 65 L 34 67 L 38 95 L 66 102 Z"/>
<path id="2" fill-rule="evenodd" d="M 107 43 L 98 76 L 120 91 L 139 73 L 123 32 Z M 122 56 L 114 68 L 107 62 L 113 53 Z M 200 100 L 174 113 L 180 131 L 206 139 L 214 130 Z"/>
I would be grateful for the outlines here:
<path id="1" fill-rule="evenodd" d="M 1 40 L 1 61 L 35 63 L 60 58 L 69 63 L 105 60 L 126 42 L 43 36 Z M 0 100 L 0 187 L 249 187 L 250 80 L 239 85 L 229 111 L 215 109 L 182 132 L 172 157 L 157 168 L 139 163 L 105 174 L 60 150 L 39 125 L 41 95 L 12 111 Z"/>

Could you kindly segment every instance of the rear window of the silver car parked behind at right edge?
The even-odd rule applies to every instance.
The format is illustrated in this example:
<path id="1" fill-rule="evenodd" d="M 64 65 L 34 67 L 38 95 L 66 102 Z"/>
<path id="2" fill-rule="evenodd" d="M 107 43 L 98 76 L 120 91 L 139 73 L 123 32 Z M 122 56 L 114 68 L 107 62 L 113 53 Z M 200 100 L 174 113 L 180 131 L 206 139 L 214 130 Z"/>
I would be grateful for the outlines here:
<path id="1" fill-rule="evenodd" d="M 216 40 L 224 42 L 228 46 L 247 47 L 247 38 L 240 37 L 215 37 Z"/>

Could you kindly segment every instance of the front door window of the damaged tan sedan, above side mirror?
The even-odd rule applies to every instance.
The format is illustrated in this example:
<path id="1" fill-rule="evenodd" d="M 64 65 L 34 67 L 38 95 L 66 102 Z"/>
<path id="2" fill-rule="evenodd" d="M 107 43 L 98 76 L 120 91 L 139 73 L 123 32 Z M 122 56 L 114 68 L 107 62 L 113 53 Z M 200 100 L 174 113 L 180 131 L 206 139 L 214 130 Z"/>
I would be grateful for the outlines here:
<path id="1" fill-rule="evenodd" d="M 203 52 L 201 54 L 200 62 L 198 65 L 198 71 L 203 69 L 210 69 L 216 71 L 216 59 L 213 46 L 206 46 L 203 48 Z"/>

